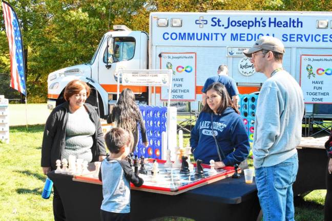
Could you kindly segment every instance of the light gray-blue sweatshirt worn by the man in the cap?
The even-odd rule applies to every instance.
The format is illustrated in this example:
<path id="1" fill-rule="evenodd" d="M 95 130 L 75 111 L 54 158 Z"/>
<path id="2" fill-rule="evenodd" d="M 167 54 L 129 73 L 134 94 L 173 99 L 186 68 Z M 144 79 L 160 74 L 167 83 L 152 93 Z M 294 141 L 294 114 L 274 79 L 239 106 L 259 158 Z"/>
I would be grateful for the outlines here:
<path id="1" fill-rule="evenodd" d="M 264 82 L 256 109 L 255 168 L 277 165 L 297 153 L 303 113 L 301 87 L 288 72 L 279 71 Z"/>

